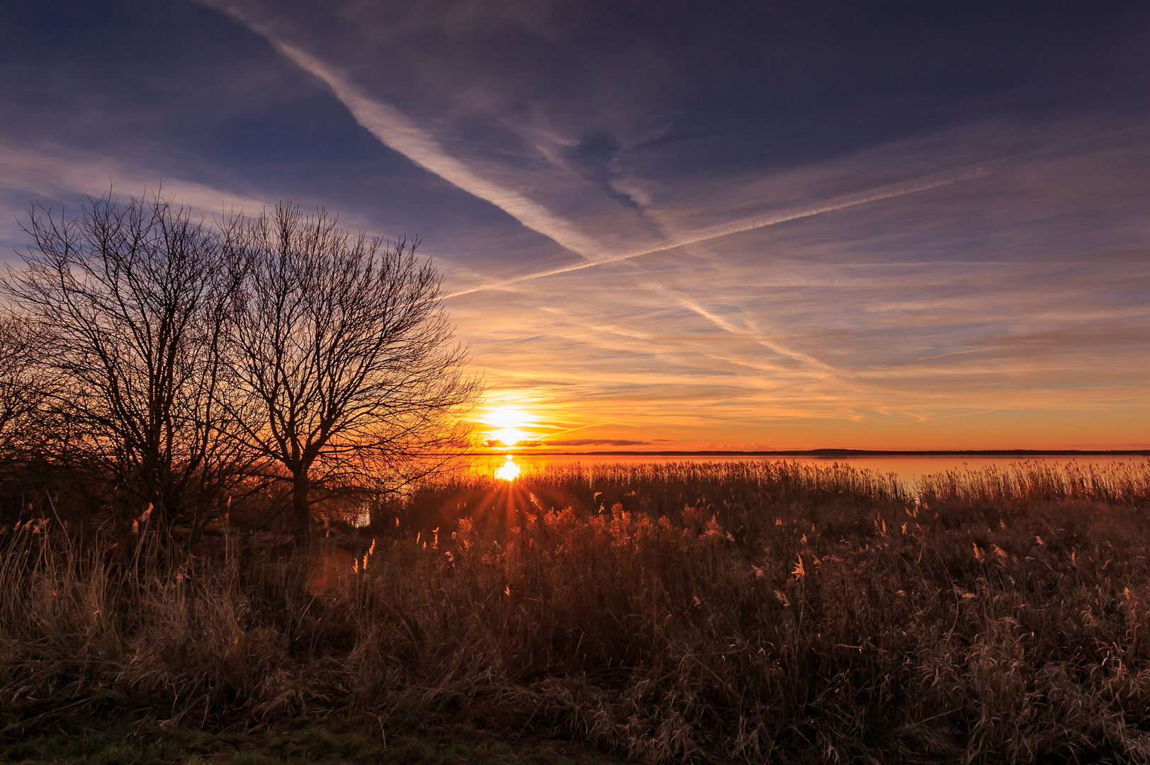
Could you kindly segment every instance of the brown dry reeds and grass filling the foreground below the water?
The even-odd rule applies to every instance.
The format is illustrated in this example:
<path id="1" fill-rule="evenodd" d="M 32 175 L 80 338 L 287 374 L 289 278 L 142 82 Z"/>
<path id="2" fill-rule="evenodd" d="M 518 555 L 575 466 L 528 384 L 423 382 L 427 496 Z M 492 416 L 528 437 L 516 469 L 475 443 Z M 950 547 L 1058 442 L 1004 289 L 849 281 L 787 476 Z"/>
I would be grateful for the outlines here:
<path id="1" fill-rule="evenodd" d="M 308 550 L 254 515 L 191 551 L 24 519 L 0 536 L 3 744 L 97 716 L 356 721 L 352 762 L 454 762 L 379 748 L 429 729 L 645 762 L 1147 762 L 1148 503 L 1150 465 L 906 488 L 747 462 L 440 480 Z"/>

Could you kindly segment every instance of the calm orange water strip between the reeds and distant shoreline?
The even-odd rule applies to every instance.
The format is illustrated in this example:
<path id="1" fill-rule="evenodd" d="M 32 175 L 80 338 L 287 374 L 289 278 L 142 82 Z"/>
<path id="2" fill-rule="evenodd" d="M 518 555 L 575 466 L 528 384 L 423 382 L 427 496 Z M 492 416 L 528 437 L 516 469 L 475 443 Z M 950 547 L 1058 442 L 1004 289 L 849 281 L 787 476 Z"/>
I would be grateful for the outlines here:
<path id="1" fill-rule="evenodd" d="M 1043 461 L 1065 465 L 1078 462 L 1079 465 L 1111 465 L 1114 462 L 1127 462 L 1145 465 L 1147 457 L 1141 456 L 1101 456 L 1101 457 L 852 457 L 852 458 L 826 458 L 826 457 L 667 457 L 667 456 L 595 456 L 595 454 L 513 454 L 508 460 L 504 454 L 484 454 L 473 457 L 470 468 L 484 475 L 497 475 L 503 471 L 503 476 L 507 476 L 506 465 L 512 462 L 520 469 L 545 467 L 547 465 L 636 465 L 649 462 L 737 462 L 737 461 L 788 461 L 810 465 L 831 466 L 850 465 L 859 469 L 869 469 L 880 474 L 894 473 L 907 485 L 913 484 L 922 475 L 933 473 L 944 473 L 948 471 L 979 471 L 987 467 L 1004 469 L 1012 464 L 1023 461 Z M 511 468 L 514 472 L 514 468 Z"/>

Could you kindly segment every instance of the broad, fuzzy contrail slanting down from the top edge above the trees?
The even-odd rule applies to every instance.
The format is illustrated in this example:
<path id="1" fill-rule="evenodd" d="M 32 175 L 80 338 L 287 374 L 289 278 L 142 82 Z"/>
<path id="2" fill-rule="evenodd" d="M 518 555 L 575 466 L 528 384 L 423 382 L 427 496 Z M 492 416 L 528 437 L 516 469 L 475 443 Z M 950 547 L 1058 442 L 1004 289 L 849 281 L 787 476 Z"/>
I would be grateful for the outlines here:
<path id="1" fill-rule="evenodd" d="M 323 81 L 336 98 L 347 107 L 355 121 L 367 128 L 389 148 L 399 152 L 447 183 L 491 202 L 527 228 L 542 234 L 574 253 L 590 258 L 603 252 L 603 248 L 593 239 L 577 231 L 568 221 L 522 194 L 476 175 L 470 168 L 444 151 L 431 133 L 415 124 L 407 115 L 385 101 L 368 97 L 334 67 L 329 67 L 298 47 L 279 40 L 262 24 L 253 22 L 230 3 L 216 0 L 201 1 L 236 18 L 244 26 L 267 39 L 281 55 L 297 67 Z"/>

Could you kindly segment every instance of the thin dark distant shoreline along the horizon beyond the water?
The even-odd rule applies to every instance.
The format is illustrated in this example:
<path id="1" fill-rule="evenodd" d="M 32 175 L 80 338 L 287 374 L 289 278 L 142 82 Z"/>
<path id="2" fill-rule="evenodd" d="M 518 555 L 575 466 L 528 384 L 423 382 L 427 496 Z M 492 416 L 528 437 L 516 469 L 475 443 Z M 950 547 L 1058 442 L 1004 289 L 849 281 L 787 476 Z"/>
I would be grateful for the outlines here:
<path id="1" fill-rule="evenodd" d="M 603 451 L 557 452 L 527 451 L 509 446 L 497 451 L 471 452 L 471 457 L 501 457 L 508 452 L 519 457 L 1150 457 L 1150 449 L 981 449 L 981 450 L 869 450 L 808 449 L 790 451 Z M 461 456 L 466 456 L 461 453 Z"/>

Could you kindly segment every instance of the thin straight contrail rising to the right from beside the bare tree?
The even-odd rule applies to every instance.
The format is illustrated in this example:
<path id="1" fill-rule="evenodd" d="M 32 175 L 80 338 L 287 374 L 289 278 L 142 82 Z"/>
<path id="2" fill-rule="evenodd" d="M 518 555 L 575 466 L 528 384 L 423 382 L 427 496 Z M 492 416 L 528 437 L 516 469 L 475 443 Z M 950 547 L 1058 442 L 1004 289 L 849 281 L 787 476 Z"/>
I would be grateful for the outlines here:
<path id="1" fill-rule="evenodd" d="M 879 201 L 880 199 L 902 197 L 904 194 L 912 194 L 917 191 L 926 191 L 928 189 L 937 189 L 938 186 L 946 186 L 952 183 L 959 183 L 961 181 L 969 181 L 971 178 L 980 178 L 984 175 L 994 173 L 994 170 L 995 170 L 994 163 L 987 162 L 964 168 L 957 168 L 953 170 L 944 170 L 942 173 L 934 173 L 931 175 L 923 175 L 918 178 L 903 181 L 900 183 L 892 183 L 887 186 L 879 186 L 876 189 L 871 189 L 868 191 L 860 191 L 853 194 L 845 194 L 843 197 L 834 197 L 833 199 L 827 199 L 821 202 L 803 205 L 800 207 L 790 207 L 788 209 L 781 209 L 774 213 L 766 213 L 764 215 L 744 217 L 733 223 L 723 223 L 722 225 L 713 225 L 710 228 L 699 229 L 697 231 L 684 234 L 682 236 L 674 237 L 672 239 L 665 239 L 662 242 L 659 242 L 657 244 L 646 247 L 641 247 L 638 250 L 628 250 L 627 252 L 611 255 L 608 258 L 585 260 L 583 262 L 572 263 L 569 266 L 561 266 L 559 268 L 551 268 L 544 271 L 524 274 L 523 276 L 514 276 L 512 278 L 503 280 L 499 282 L 491 282 L 489 284 L 471 286 L 466 290 L 459 290 L 457 292 L 452 292 L 446 297 L 454 298 L 461 294 L 483 292 L 485 290 L 499 290 L 506 286 L 511 286 L 513 284 L 519 284 L 521 282 L 529 282 L 531 280 L 543 278 L 545 276 L 569 274 L 570 271 L 577 271 L 584 268 L 593 268 L 595 266 L 606 266 L 607 263 L 618 263 L 623 260 L 630 260 L 631 258 L 638 258 L 639 255 L 650 255 L 656 252 L 665 252 L 667 250 L 674 250 L 675 247 L 682 247 L 683 245 L 688 244 L 696 244 L 698 242 L 706 242 L 708 239 L 718 239 L 719 237 L 724 237 L 730 234 L 738 234 L 739 231 L 761 229 L 767 225 L 775 225 L 776 223 L 784 223 L 787 221 L 793 221 L 800 217 L 811 217 L 812 215 L 819 215 L 821 213 L 830 213 L 836 209 L 843 209 L 845 207 L 854 207 L 856 205 L 865 205 L 867 202 Z"/>

